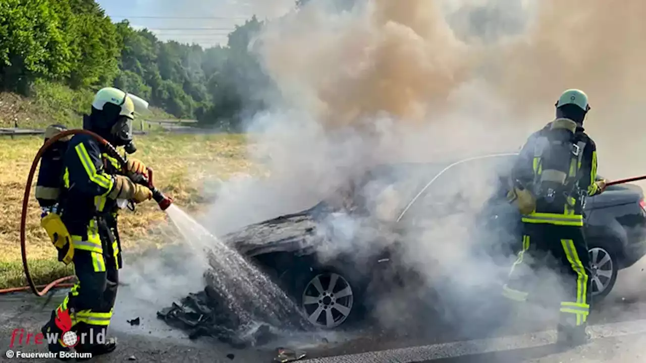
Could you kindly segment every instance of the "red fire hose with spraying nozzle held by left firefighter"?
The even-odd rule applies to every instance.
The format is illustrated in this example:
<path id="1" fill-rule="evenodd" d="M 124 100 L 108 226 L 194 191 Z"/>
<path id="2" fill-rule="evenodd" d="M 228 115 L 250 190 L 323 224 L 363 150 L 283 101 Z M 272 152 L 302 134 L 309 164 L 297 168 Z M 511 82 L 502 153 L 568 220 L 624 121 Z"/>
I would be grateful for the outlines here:
<path id="1" fill-rule="evenodd" d="M 45 141 L 43 146 L 41 146 L 41 148 L 36 153 L 36 156 L 34 157 L 34 161 L 32 162 L 32 166 L 29 171 L 29 175 L 27 177 L 27 182 L 25 185 L 25 196 L 23 197 L 23 211 L 20 218 L 20 249 L 21 249 L 21 254 L 23 258 L 23 268 L 25 269 L 25 278 L 29 285 L 25 287 L 12 287 L 10 289 L 0 289 L 0 294 L 12 293 L 16 291 L 26 291 L 30 289 L 32 293 L 34 293 L 34 295 L 43 296 L 48 291 L 50 291 L 50 289 L 52 289 L 53 287 L 72 286 L 72 284 L 64 283 L 64 282 L 73 280 L 74 278 L 76 278 L 76 276 L 72 275 L 72 276 L 65 276 L 63 278 L 58 278 L 47 285 L 34 284 L 34 280 L 32 279 L 32 276 L 29 273 L 29 267 L 27 264 L 26 238 L 25 238 L 25 227 L 26 227 L 27 209 L 29 205 L 29 196 L 32 189 L 32 182 L 34 181 L 34 175 L 36 174 L 36 168 L 38 166 L 38 163 L 43 157 L 43 154 L 45 153 L 45 151 L 51 145 L 53 145 L 56 141 L 60 140 L 61 138 L 65 138 L 66 136 L 70 136 L 74 134 L 87 134 L 89 136 L 92 136 L 92 138 L 98 141 L 99 144 L 105 147 L 105 149 L 107 149 L 108 152 L 112 154 L 114 158 L 116 158 L 116 160 L 121 166 L 122 171 L 124 172 L 124 174 L 129 176 L 132 182 L 145 185 L 151 190 L 152 199 L 158 203 L 162 211 L 170 207 L 172 204 L 172 199 L 165 196 L 161 191 L 159 191 L 159 189 L 154 187 L 154 185 L 152 184 L 152 169 L 148 168 L 148 176 L 145 176 L 143 174 L 132 174 L 128 172 L 127 161 L 123 158 L 123 156 L 119 154 L 119 152 L 117 152 L 116 149 L 114 149 L 112 145 L 110 145 L 110 143 L 107 140 L 105 140 L 98 134 L 91 132 L 89 130 L 83 130 L 83 129 L 65 130 L 65 131 L 59 132 L 58 134 L 52 136 L 49 140 Z M 42 288 L 42 290 L 39 290 L 39 288 Z"/>

